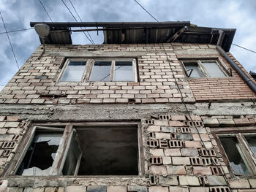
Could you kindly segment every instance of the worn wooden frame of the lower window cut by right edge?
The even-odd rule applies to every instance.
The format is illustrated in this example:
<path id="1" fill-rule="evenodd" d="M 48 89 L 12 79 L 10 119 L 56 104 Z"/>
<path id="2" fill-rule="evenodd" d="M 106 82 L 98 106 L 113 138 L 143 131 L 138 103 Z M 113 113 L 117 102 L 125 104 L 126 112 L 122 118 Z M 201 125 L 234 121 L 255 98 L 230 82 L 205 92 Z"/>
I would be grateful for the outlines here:
<path id="1" fill-rule="evenodd" d="M 247 126 L 247 127 L 223 127 L 223 128 L 210 128 L 211 133 L 214 136 L 214 139 L 217 142 L 217 146 L 219 147 L 220 153 L 222 154 L 222 158 L 227 165 L 227 169 L 230 172 L 231 177 L 241 177 L 241 178 L 248 178 L 248 177 L 255 177 L 256 176 L 256 155 L 252 152 L 251 147 L 249 147 L 249 143 L 246 141 L 244 136 L 255 136 L 256 137 L 256 126 Z M 222 146 L 222 142 L 220 141 L 220 137 L 236 137 L 238 140 L 238 145 L 241 147 L 243 154 L 241 154 L 241 158 L 243 158 L 244 163 L 249 164 L 247 169 L 252 174 L 237 174 L 234 172 L 229 159 L 227 158 L 227 154 L 225 152 L 224 147 Z"/>

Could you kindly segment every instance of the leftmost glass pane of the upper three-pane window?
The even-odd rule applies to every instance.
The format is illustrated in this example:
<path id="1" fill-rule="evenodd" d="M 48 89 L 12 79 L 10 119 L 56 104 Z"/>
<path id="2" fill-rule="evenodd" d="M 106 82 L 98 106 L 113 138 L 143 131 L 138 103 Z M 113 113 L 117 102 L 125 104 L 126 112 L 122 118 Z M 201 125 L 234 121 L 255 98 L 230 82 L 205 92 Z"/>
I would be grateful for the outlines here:
<path id="1" fill-rule="evenodd" d="M 70 61 L 61 81 L 80 81 L 83 77 L 86 61 Z"/>

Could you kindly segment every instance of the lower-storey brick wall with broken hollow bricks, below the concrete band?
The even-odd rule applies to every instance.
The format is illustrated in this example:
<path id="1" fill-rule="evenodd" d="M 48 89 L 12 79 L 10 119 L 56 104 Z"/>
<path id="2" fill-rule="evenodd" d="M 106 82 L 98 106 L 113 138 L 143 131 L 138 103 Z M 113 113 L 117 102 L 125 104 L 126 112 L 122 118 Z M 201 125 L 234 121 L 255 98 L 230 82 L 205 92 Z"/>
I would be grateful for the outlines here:
<path id="1" fill-rule="evenodd" d="M 61 180 L 67 182 L 59 185 L 51 185 L 50 180 L 54 177 L 45 177 L 44 182 L 35 182 L 33 177 L 28 177 L 26 184 L 10 180 L 12 191 L 97 191 L 97 192 L 219 192 L 219 191 L 255 191 L 256 179 L 253 177 L 231 177 L 230 170 L 223 160 L 220 147 L 211 134 L 211 129 L 206 127 L 212 126 L 211 120 L 233 120 L 236 126 L 255 126 L 256 116 L 248 115 L 246 117 L 233 116 L 194 116 L 191 118 L 187 115 L 162 114 L 158 118 L 141 120 L 143 129 L 143 148 L 145 158 L 145 175 L 135 178 L 141 180 L 140 185 L 132 182 L 131 178 L 120 177 L 97 177 L 92 182 L 93 185 L 86 185 L 93 181 L 93 177 L 79 177 L 70 180 L 69 177 L 61 177 Z M 245 120 L 246 119 L 246 120 Z M 208 121 L 207 121 L 208 120 Z M 239 123 L 238 123 L 239 122 Z M 1 142 L 13 142 L 16 134 L 20 134 L 24 129 L 22 126 L 26 122 L 18 122 L 18 117 L 1 116 Z M 195 128 L 197 126 L 197 129 Z M 214 127 L 230 126 L 227 124 L 214 124 Z M 26 126 L 24 126 L 26 127 Z M 18 129 L 20 131 L 12 131 Z M 197 131 L 198 130 L 198 131 Z M 7 133 L 7 134 L 6 134 Z M 202 141 L 200 140 L 200 137 Z M 10 135 L 10 136 L 9 136 Z M 3 139 L 4 138 L 4 139 Z M 17 141 L 15 140 L 15 146 Z M 1 145 L 3 147 L 4 145 Z M 12 161 L 15 149 L 10 149 L 9 157 L 1 155 L 1 169 Z M 2 153 L 2 152 L 1 152 Z M 211 154 L 211 157 L 210 155 Z M 214 161 L 214 162 L 213 162 Z M 17 177 L 23 178 L 23 177 Z M 74 177 L 73 177 L 74 178 Z M 122 177 L 121 177 L 122 178 Z M 40 180 L 40 179 L 39 179 Z M 120 183 L 115 182 L 120 180 Z M 146 180 L 146 183 L 145 183 Z M 115 183 L 118 183 L 116 185 Z M 20 185 L 28 185 L 26 188 Z"/>

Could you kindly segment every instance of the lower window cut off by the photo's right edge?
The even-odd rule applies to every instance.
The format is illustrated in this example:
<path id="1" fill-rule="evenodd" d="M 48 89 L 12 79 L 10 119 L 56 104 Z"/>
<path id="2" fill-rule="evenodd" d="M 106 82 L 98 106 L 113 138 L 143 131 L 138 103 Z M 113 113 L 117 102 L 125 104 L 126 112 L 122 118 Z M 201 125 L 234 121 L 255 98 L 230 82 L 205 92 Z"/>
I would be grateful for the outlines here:
<path id="1" fill-rule="evenodd" d="M 238 133 L 218 137 L 234 174 L 256 174 L 256 135 Z"/>

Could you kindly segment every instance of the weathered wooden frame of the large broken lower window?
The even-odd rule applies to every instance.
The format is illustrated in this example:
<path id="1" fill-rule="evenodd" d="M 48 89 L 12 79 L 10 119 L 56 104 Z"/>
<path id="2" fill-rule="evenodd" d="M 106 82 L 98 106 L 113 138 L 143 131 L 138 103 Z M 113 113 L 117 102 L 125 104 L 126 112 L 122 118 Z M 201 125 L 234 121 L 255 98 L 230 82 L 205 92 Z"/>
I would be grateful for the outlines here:
<path id="1" fill-rule="evenodd" d="M 73 128 L 75 126 L 75 128 Z M 125 177 L 141 177 L 145 174 L 144 170 L 144 161 L 143 161 L 143 139 L 142 139 L 142 131 L 140 122 L 131 121 L 131 122 L 90 122 L 90 123 L 33 123 L 29 131 L 26 132 L 23 140 L 20 141 L 18 145 L 18 153 L 15 154 L 14 161 L 10 162 L 10 166 L 7 171 L 4 173 L 5 176 L 15 176 L 15 177 L 121 177 L 121 175 L 62 175 L 62 169 L 64 163 L 67 158 L 67 153 L 69 150 L 69 143 L 72 139 L 72 134 L 74 134 L 75 129 L 79 129 L 80 127 L 90 127 L 90 126 L 102 126 L 104 127 L 124 127 L 124 126 L 136 126 L 138 131 L 138 175 L 124 175 Z M 54 158 L 52 168 L 50 170 L 50 174 L 48 176 L 35 176 L 35 175 L 16 175 L 18 172 L 19 166 L 23 161 L 26 152 L 31 145 L 31 142 L 34 139 L 34 135 L 39 130 L 47 130 L 47 131 L 63 131 L 63 135 L 61 137 L 61 142 L 59 143 L 59 148 L 56 153 L 56 157 Z M 25 146 L 25 147 L 24 147 Z M 80 155 L 81 158 L 82 155 Z M 80 160 L 79 160 L 80 162 Z M 78 169 L 78 164 L 76 169 Z"/>

